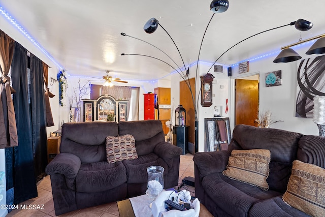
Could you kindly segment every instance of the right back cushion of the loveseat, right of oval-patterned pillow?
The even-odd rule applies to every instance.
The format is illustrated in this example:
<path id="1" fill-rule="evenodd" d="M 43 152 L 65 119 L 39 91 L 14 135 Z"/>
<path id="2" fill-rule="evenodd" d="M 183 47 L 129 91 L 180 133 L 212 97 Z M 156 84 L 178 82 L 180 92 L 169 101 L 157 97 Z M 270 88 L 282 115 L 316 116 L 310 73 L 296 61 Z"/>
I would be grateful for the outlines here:
<path id="1" fill-rule="evenodd" d="M 160 120 L 121 121 L 118 123 L 118 133 L 134 136 L 138 156 L 152 153 L 158 143 L 165 141 Z"/>

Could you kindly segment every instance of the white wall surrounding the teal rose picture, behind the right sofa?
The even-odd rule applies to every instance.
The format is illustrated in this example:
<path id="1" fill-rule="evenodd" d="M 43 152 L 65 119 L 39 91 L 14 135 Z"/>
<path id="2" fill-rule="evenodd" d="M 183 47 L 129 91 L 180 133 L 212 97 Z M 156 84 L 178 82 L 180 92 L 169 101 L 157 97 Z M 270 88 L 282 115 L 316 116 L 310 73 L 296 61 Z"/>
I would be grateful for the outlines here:
<path id="1" fill-rule="evenodd" d="M 301 53 L 301 52 L 299 52 Z M 318 135 L 318 128 L 312 118 L 295 117 L 297 70 L 300 61 L 285 64 L 274 64 L 271 56 L 264 59 L 250 61 L 249 72 L 245 75 L 259 72 L 259 110 L 272 112 L 273 120 L 283 120 L 271 125 L 271 128 L 302 133 L 305 135 Z M 265 74 L 267 72 L 282 71 L 282 85 L 266 87 Z M 233 68 L 235 79 L 243 74 L 238 74 L 238 66 Z M 232 106 L 233 109 L 233 106 Z"/>

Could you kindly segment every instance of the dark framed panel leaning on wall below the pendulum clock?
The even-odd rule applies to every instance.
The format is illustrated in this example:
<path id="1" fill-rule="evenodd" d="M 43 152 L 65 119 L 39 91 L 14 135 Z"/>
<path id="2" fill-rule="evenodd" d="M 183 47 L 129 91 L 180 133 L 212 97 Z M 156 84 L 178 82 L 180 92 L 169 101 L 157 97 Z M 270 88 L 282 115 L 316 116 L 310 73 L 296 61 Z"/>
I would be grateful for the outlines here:
<path id="1" fill-rule="evenodd" d="M 228 150 L 232 139 L 229 117 L 205 118 L 207 151 Z"/>

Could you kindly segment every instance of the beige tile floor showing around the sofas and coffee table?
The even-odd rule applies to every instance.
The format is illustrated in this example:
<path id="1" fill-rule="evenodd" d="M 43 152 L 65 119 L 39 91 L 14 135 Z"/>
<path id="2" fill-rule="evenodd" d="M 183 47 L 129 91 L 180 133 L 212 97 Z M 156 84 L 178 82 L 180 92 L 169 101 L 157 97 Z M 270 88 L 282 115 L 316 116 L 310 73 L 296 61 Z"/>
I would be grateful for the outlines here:
<path id="1" fill-rule="evenodd" d="M 194 162 L 192 161 L 193 155 L 187 153 L 182 155 L 180 158 L 180 166 L 179 166 L 179 181 L 178 184 L 182 183 L 182 179 L 186 176 L 194 177 Z M 176 187 L 177 188 L 177 187 Z M 194 196 L 194 188 L 188 187 L 185 185 L 181 190 L 186 188 L 187 191 L 191 192 L 191 195 Z M 17 209 L 11 211 L 6 216 L 22 216 L 22 217 L 47 217 L 47 216 L 56 216 L 54 213 L 54 204 L 52 198 L 52 189 L 51 189 L 51 180 L 50 176 L 45 176 L 41 181 L 37 183 L 37 190 L 38 190 L 38 197 L 26 200 L 21 204 L 34 205 L 32 207 L 39 208 L 39 209 Z M 21 204 L 18 204 L 20 207 Z M 37 207 L 40 205 L 40 207 Z M 44 205 L 43 207 L 41 207 Z M 42 209 L 41 209 L 42 208 Z M 76 211 L 72 211 L 66 214 L 59 215 L 60 217 L 116 217 L 119 216 L 117 203 L 112 202 L 100 206 L 94 206 L 90 208 L 80 209 Z"/>

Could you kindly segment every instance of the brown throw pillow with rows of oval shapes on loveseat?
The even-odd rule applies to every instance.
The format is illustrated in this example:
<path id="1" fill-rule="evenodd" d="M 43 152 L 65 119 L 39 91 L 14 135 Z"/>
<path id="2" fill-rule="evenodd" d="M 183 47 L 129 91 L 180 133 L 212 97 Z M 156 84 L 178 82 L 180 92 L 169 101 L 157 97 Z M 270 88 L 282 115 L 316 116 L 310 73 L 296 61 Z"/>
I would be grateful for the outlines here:
<path id="1" fill-rule="evenodd" d="M 117 161 L 138 158 L 136 141 L 132 135 L 106 137 L 106 158 L 112 164 Z"/>

